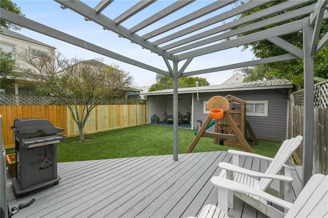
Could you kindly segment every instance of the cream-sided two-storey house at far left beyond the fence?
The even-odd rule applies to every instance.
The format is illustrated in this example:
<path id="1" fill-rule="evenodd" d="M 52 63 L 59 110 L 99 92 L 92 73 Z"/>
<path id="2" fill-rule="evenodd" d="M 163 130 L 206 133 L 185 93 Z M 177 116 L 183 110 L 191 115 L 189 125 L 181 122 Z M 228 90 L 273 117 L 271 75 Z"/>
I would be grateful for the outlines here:
<path id="1" fill-rule="evenodd" d="M 43 42 L 26 37 L 8 29 L 0 29 L 0 48 L 6 53 L 12 53 L 12 59 L 20 67 L 27 64 L 19 59 L 19 55 L 25 49 L 31 48 L 35 55 L 49 55 L 49 49 L 55 49 Z M 16 72 L 19 74 L 19 72 Z M 24 78 L 24 75 L 20 75 Z M 35 86 L 18 86 L 17 80 L 13 78 L 1 79 L 0 94 L 37 95 Z"/>

